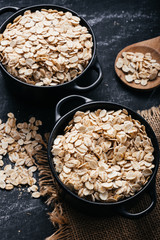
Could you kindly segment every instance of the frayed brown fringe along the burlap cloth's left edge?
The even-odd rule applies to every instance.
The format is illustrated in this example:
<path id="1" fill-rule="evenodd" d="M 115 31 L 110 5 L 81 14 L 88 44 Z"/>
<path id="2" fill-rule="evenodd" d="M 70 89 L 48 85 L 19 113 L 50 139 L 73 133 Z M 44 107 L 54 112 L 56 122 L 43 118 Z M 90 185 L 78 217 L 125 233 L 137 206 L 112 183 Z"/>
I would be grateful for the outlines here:
<path id="1" fill-rule="evenodd" d="M 49 218 L 54 227 L 58 229 L 50 237 L 47 237 L 46 240 L 70 239 L 71 231 L 68 220 L 63 213 L 60 196 L 61 190 L 52 176 L 47 160 L 47 150 L 40 151 L 35 158 L 39 170 L 40 193 L 42 197 L 47 198 L 46 204 L 54 208 L 54 210 L 49 213 Z"/>

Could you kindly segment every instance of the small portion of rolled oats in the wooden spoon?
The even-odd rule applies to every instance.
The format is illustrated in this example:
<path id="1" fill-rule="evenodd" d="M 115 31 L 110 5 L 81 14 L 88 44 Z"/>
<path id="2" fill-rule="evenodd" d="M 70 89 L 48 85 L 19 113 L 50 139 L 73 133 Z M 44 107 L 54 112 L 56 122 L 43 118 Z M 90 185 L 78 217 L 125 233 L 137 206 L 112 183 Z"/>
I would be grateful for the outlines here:
<path id="1" fill-rule="evenodd" d="M 122 58 L 118 58 L 116 67 L 125 73 L 127 82 L 142 86 L 160 76 L 160 64 L 152 59 L 150 53 L 122 52 Z"/>

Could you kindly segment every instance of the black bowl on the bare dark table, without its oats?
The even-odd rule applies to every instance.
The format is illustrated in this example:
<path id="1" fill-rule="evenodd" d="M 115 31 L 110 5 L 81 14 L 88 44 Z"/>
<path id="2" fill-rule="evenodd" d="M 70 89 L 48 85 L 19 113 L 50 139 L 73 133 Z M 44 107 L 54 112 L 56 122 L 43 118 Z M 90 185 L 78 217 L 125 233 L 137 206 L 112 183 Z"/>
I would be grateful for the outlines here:
<path id="1" fill-rule="evenodd" d="M 35 85 L 31 85 L 28 83 L 25 83 L 21 80 L 19 80 L 18 78 L 14 77 L 13 75 L 11 75 L 6 68 L 3 66 L 2 63 L 0 63 L 0 67 L 2 69 L 2 72 L 4 73 L 4 77 L 6 80 L 9 80 L 8 85 L 11 87 L 12 90 L 15 90 L 15 92 L 17 94 L 20 94 L 22 96 L 29 96 L 29 98 L 33 97 L 33 98 L 43 98 L 44 97 L 48 97 L 48 94 L 51 95 L 52 93 L 57 93 L 60 92 L 68 92 L 69 90 L 71 91 L 79 91 L 79 92 L 83 92 L 83 91 L 88 91 L 91 90 L 92 88 L 96 87 L 102 80 L 102 69 L 101 66 L 98 62 L 97 56 L 96 56 L 96 39 L 95 39 L 95 35 L 93 33 L 92 28 L 90 27 L 90 25 L 84 20 L 84 18 L 80 17 L 76 12 L 68 9 L 68 8 L 64 8 L 61 6 L 56 6 L 56 5 L 49 5 L 49 4 L 42 4 L 42 5 L 34 5 L 34 6 L 29 6 L 29 7 L 25 7 L 22 9 L 19 9 L 17 7 L 4 7 L 0 9 L 0 14 L 7 12 L 7 11 L 16 11 L 16 13 L 14 13 L 12 16 L 10 16 L 0 27 L 0 33 L 3 33 L 4 30 L 6 29 L 6 26 L 8 25 L 8 23 L 12 23 L 13 20 L 19 16 L 19 15 L 23 15 L 24 12 L 26 10 L 31 10 L 32 12 L 36 11 L 36 10 L 41 10 L 41 9 L 55 9 L 58 11 L 63 11 L 63 12 L 71 12 L 74 16 L 77 16 L 80 18 L 80 24 L 82 26 L 85 26 L 88 29 L 88 32 L 92 35 L 92 40 L 93 40 L 93 49 L 92 49 L 92 58 L 89 61 L 87 67 L 84 69 L 84 71 L 77 76 L 75 79 L 73 79 L 70 82 L 66 82 L 60 85 L 56 85 L 56 86 L 35 86 Z M 97 77 L 94 81 L 89 82 L 88 86 L 81 86 L 81 82 L 83 82 L 83 78 L 86 79 L 86 73 L 88 73 L 89 71 L 96 71 L 97 72 Z"/>

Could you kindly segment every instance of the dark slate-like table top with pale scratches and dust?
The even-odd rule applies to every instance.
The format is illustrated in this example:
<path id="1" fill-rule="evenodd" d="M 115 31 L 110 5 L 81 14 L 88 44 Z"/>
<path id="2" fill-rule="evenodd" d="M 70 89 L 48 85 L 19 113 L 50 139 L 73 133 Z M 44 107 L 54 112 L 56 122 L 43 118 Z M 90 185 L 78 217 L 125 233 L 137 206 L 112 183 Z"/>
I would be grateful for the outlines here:
<path id="1" fill-rule="evenodd" d="M 34 4 L 45 1 L 35 0 Z M 133 110 L 148 109 L 160 104 L 160 88 L 150 92 L 137 92 L 126 87 L 117 78 L 114 61 L 117 53 L 127 45 L 154 38 L 160 32 L 160 7 L 157 0 L 63 0 L 46 1 L 68 7 L 84 17 L 92 26 L 97 39 L 97 55 L 103 69 L 103 81 L 94 90 L 85 93 L 94 100 L 123 104 Z M 1 0 L 0 7 L 33 5 L 28 0 Z M 11 13 L 0 16 L 0 23 Z M 6 88 L 0 72 L 0 118 L 6 120 L 14 112 L 18 122 L 36 116 L 43 121 L 41 132 L 51 131 L 54 125 L 54 108 L 58 99 L 45 105 L 34 105 L 18 100 Z M 65 93 L 64 95 L 70 94 Z M 10 192 L 0 190 L 0 239 L 45 239 L 53 232 L 43 199 L 32 199 L 26 188 Z"/>

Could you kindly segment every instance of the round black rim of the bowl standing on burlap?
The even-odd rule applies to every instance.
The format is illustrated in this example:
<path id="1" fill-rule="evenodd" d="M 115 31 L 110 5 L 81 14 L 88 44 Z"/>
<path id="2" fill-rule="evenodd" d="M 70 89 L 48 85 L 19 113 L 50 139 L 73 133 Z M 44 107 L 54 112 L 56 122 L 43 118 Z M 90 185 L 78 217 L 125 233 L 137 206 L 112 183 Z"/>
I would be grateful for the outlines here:
<path id="1" fill-rule="evenodd" d="M 98 105 L 101 105 L 101 104 L 108 104 L 108 105 L 111 105 L 111 106 L 116 106 L 116 107 L 119 107 L 120 109 L 126 109 L 127 111 L 129 111 L 129 115 L 132 116 L 135 115 L 137 118 L 134 117 L 134 119 L 138 120 L 138 121 L 142 121 L 141 124 L 145 126 L 146 128 L 146 132 L 148 132 L 147 129 L 149 129 L 149 131 L 151 131 L 151 134 L 152 136 L 149 136 L 150 138 L 153 139 L 152 141 L 152 145 L 155 149 L 155 159 L 154 159 L 154 164 L 155 164 L 155 167 L 154 169 L 152 170 L 153 173 L 152 175 L 150 176 L 148 182 L 142 187 L 142 189 L 138 192 L 136 192 L 133 196 L 129 196 L 129 197 L 125 197 L 124 199 L 122 200 L 118 200 L 116 202 L 94 202 L 94 201 L 90 201 L 90 200 L 87 200 L 85 198 L 82 198 L 82 197 L 79 197 L 76 193 L 72 192 L 58 177 L 58 174 L 54 168 L 54 163 L 53 163 L 53 156 L 52 156 L 52 153 L 51 153 L 51 148 L 52 148 L 52 145 L 53 145 L 53 135 L 54 135 L 54 132 L 55 130 L 59 127 L 59 125 L 64 121 L 65 118 L 68 118 L 68 117 L 71 117 L 73 118 L 73 115 L 76 111 L 81 111 L 82 108 L 88 106 L 89 108 L 91 106 L 95 106 L 95 104 L 98 104 Z M 88 108 L 88 110 L 89 110 Z M 107 110 L 107 109 L 106 109 Z M 113 109 L 114 110 L 114 109 Z M 82 110 L 83 111 L 83 110 Z M 87 109 L 85 110 L 87 111 Z M 68 122 L 67 122 L 68 123 Z M 63 123 L 62 123 L 63 124 Z M 148 135 L 148 134 L 147 134 Z M 152 183 L 153 181 L 155 180 L 156 178 L 156 174 L 157 174 L 157 171 L 158 171 L 158 167 L 159 167 L 159 146 L 158 146 L 158 141 L 157 141 L 157 138 L 155 136 L 155 133 L 152 129 L 152 127 L 150 126 L 150 124 L 140 115 L 138 114 L 137 112 L 133 111 L 132 109 L 124 106 L 124 105 L 121 105 L 121 104 L 117 104 L 117 103 L 114 103 L 114 102 L 107 102 L 107 101 L 90 101 L 90 102 L 87 102 L 85 104 L 82 104 L 80 105 L 79 107 L 76 107 L 74 108 L 73 110 L 67 112 L 64 116 L 60 117 L 60 119 L 57 120 L 57 122 L 55 123 L 53 129 L 52 129 L 52 132 L 50 134 L 50 137 L 49 137 L 49 141 L 48 141 L 48 149 L 47 149 L 47 154 L 48 154 L 48 162 L 49 162 L 49 165 L 50 165 L 50 168 L 51 168 L 51 172 L 52 172 L 52 175 L 55 177 L 56 181 L 60 184 L 60 186 L 65 190 L 67 191 L 67 193 L 71 194 L 74 198 L 76 198 L 77 200 L 79 201 L 82 201 L 84 203 L 88 203 L 88 204 L 92 204 L 92 205 L 98 205 L 98 206 L 117 206 L 117 205 L 121 205 L 121 204 L 124 204 L 124 203 L 128 203 L 129 201 L 132 201 L 133 199 L 137 198 L 139 195 L 141 195 L 143 192 L 145 192 L 147 189 L 150 188 L 150 186 L 152 186 Z"/>

